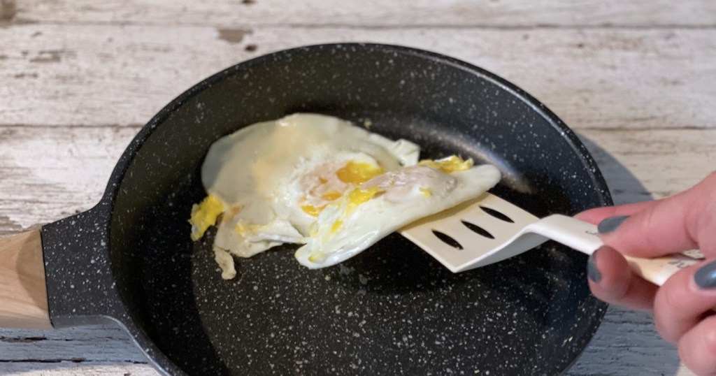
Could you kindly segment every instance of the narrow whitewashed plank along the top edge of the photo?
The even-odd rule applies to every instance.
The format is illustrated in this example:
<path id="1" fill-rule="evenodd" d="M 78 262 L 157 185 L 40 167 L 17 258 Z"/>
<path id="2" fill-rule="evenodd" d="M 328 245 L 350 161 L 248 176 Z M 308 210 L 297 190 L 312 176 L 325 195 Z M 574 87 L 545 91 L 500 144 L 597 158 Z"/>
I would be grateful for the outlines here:
<path id="1" fill-rule="evenodd" d="M 280 4 L 280 5 L 279 5 Z M 281 26 L 714 26 L 710 0 L 18 0 L 19 21 Z"/>

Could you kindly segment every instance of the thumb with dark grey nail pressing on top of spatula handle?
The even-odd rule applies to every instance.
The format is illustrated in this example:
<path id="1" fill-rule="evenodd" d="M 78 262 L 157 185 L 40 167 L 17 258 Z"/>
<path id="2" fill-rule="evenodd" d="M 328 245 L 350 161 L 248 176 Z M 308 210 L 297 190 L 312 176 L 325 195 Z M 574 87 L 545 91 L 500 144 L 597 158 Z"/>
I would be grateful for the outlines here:
<path id="1" fill-rule="evenodd" d="M 624 254 L 654 257 L 700 248 L 716 256 L 716 173 L 676 196 L 599 223 L 604 244 Z"/>

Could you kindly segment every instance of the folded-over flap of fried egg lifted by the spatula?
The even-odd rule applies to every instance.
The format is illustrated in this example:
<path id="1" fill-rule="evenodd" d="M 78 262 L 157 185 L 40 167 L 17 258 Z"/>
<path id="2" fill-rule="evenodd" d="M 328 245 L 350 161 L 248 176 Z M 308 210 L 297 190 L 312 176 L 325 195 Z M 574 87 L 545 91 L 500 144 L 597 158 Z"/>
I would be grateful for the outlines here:
<path id="1" fill-rule="evenodd" d="M 439 166 L 431 160 L 389 171 L 347 191 L 321 211 L 296 259 L 311 269 L 338 264 L 403 226 L 479 196 L 500 179 L 493 165 L 448 166 L 450 173 Z"/>

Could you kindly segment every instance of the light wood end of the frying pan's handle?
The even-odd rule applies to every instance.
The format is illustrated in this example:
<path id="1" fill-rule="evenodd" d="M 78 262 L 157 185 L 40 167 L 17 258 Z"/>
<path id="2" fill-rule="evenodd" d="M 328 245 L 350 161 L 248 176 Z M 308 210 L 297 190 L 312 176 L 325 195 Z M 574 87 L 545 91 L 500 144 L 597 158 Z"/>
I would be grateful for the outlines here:
<path id="1" fill-rule="evenodd" d="M 0 238 L 0 327 L 52 329 L 39 229 Z"/>

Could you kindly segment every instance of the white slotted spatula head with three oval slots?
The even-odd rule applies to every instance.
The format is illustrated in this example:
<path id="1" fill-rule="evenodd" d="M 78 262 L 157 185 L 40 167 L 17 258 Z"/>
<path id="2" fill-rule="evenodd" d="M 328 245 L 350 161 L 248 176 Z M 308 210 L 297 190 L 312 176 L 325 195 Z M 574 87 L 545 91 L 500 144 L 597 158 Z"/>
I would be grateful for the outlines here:
<path id="1" fill-rule="evenodd" d="M 538 221 L 523 208 L 485 193 L 411 223 L 400 233 L 456 273 L 508 259 L 542 244 L 545 237 L 522 233 Z"/>

